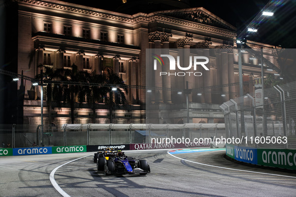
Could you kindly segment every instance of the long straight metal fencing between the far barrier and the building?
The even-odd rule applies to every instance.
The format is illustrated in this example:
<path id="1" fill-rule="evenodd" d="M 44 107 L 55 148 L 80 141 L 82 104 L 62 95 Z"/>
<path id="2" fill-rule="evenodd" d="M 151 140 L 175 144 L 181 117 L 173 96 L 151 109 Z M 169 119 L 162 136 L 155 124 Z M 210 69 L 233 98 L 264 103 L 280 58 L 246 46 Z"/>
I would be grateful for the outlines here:
<path id="1" fill-rule="evenodd" d="M 42 134 L 43 133 L 43 134 Z M 224 123 L 0 125 L 11 147 L 151 143 L 151 138 L 225 137 Z"/>

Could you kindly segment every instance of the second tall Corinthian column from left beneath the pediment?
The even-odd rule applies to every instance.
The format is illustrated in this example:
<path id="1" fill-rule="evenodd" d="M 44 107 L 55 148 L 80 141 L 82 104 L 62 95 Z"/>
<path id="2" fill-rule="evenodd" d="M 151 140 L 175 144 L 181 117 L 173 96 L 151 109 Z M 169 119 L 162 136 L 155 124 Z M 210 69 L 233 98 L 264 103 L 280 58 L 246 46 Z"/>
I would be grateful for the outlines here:
<path id="1" fill-rule="evenodd" d="M 163 48 L 163 52 L 164 54 L 169 54 L 169 38 L 172 37 L 171 33 L 163 33 L 162 36 L 162 48 Z M 169 61 L 165 61 L 165 65 L 162 66 L 162 71 L 163 72 L 170 72 L 169 69 Z M 162 86 L 164 88 L 171 88 L 171 77 L 167 76 L 167 75 L 163 75 L 162 76 Z M 169 90 L 163 90 L 163 100 L 166 103 L 171 103 L 172 99 L 171 99 L 171 91 Z"/>

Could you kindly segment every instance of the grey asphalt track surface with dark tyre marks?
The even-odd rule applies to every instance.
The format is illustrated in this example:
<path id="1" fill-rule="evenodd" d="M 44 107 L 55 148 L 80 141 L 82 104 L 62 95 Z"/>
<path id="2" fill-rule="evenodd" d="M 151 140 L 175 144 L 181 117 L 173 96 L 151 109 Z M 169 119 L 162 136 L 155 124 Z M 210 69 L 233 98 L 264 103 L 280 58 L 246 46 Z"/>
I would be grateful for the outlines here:
<path id="1" fill-rule="evenodd" d="M 146 159 L 151 173 L 120 176 L 98 172 L 92 156 L 87 156 L 90 154 L 0 157 L 0 196 L 62 196 L 50 181 L 55 168 L 56 183 L 70 196 L 296 195 L 296 174 L 233 163 L 223 157 L 225 150 L 173 156 L 167 150 L 126 151 L 129 156 Z"/>

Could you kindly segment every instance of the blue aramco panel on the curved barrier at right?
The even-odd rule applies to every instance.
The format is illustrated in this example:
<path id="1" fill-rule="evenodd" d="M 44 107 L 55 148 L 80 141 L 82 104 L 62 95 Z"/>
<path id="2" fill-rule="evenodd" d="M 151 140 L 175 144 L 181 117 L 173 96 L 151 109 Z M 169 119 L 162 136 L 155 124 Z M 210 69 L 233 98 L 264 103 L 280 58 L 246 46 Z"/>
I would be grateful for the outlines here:
<path id="1" fill-rule="evenodd" d="M 257 149 L 243 146 L 234 146 L 234 159 L 246 163 L 257 164 Z"/>

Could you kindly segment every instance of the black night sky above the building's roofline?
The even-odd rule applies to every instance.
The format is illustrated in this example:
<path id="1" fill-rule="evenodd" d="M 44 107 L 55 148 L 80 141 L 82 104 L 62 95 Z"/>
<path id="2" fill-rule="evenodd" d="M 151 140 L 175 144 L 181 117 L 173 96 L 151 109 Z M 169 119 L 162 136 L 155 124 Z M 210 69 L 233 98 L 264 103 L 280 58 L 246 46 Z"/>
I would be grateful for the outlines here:
<path id="1" fill-rule="evenodd" d="M 118 11 L 123 4 L 122 0 L 64 0 L 76 4 Z M 128 0 L 129 2 L 130 0 Z M 132 0 L 141 1 L 141 0 Z M 148 2 L 146 0 L 145 2 Z M 152 0 L 153 1 L 153 0 Z M 156 1 L 156 0 L 154 0 Z M 168 1 L 168 0 L 167 0 Z M 257 15 L 269 0 L 188 0 L 190 7 L 204 7 L 228 23 L 242 30 Z M 249 34 L 247 39 L 281 45 L 285 48 L 296 48 L 296 0 L 282 0 L 285 3 L 277 9 L 272 17 L 266 18 L 259 26 L 256 33 Z M 104 3 L 102 3 L 104 2 Z M 127 3 L 126 3 L 127 4 Z M 126 5 L 125 4 L 125 5 Z M 130 3 L 131 4 L 131 3 Z M 135 3 L 132 3 L 135 4 Z M 152 12 L 165 10 L 167 6 L 160 4 L 151 6 L 135 6 L 121 9 L 118 12 L 134 14 L 138 12 Z"/>

